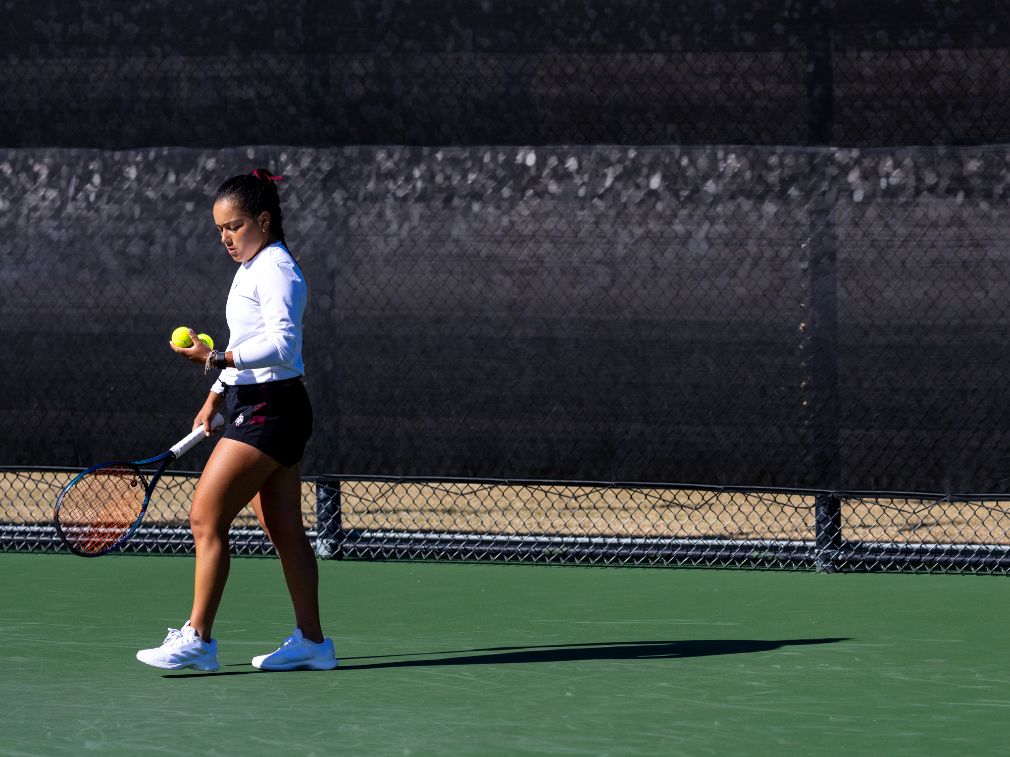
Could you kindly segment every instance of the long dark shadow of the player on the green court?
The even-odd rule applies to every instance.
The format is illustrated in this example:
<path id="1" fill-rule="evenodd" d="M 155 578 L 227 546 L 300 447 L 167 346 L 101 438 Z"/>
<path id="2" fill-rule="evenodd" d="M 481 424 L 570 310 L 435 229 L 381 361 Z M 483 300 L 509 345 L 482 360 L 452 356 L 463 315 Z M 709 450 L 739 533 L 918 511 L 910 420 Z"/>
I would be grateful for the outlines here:
<path id="1" fill-rule="evenodd" d="M 516 662 L 583 662 L 587 660 L 670 660 L 687 657 L 709 657 L 723 654 L 772 652 L 782 647 L 834 644 L 847 638 L 828 639 L 706 639 L 701 641 L 621 641 L 588 642 L 585 644 L 550 644 L 528 647 L 489 647 L 459 649 L 449 652 L 415 652 L 413 654 L 373 657 L 344 657 L 339 670 L 375 670 L 393 667 L 437 667 L 442 665 L 508 665 Z M 475 654 L 483 652 L 484 654 Z M 429 655 L 453 655 L 429 657 Z M 348 665 L 348 660 L 374 660 L 389 657 L 425 657 L 426 659 L 387 660 Z M 241 666 L 245 667 L 248 663 Z M 237 666 L 236 666 L 237 667 Z M 174 673 L 166 678 L 195 678 L 207 675 L 247 675 L 259 670 L 227 670 L 216 673 Z"/>

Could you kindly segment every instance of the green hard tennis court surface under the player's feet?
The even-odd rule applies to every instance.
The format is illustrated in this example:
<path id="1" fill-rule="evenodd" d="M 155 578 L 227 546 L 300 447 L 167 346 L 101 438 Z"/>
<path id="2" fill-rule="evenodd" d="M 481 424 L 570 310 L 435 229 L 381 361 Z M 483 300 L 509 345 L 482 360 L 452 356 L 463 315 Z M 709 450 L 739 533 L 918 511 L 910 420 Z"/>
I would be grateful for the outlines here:
<path id="1" fill-rule="evenodd" d="M 998 576 L 321 563 L 332 672 L 248 664 L 291 631 L 236 559 L 221 671 L 133 655 L 190 557 L 0 555 L 0 754 L 1006 754 Z"/>

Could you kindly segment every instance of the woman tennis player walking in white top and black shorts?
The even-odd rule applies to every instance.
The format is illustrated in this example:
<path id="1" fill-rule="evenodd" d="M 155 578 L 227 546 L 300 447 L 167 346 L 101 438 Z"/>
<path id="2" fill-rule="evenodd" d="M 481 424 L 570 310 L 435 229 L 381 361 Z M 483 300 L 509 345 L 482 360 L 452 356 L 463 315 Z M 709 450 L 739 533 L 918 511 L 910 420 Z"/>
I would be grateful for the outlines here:
<path id="1" fill-rule="evenodd" d="M 236 176 L 217 190 L 214 223 L 238 263 L 225 315 L 227 350 L 210 349 L 190 331 L 193 346 L 172 346 L 206 369 L 222 368 L 193 428 L 211 434 L 219 410 L 224 436 L 207 461 L 190 510 L 196 543 L 193 612 L 182 629 L 169 629 L 162 646 L 136 653 L 156 667 L 217 670 L 214 616 L 228 578 L 228 528 L 251 502 L 277 548 L 295 606 L 295 630 L 271 654 L 252 658 L 263 670 L 337 665 L 333 642 L 319 624 L 319 573 L 302 526 L 298 463 L 312 434 L 312 408 L 302 385 L 305 280 L 284 241 L 280 196 L 266 171 Z M 222 406 L 224 406 L 222 408 Z"/>

